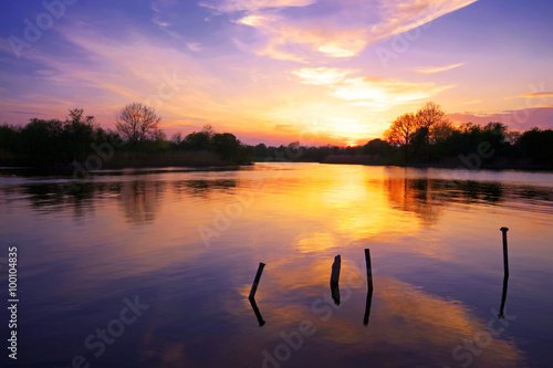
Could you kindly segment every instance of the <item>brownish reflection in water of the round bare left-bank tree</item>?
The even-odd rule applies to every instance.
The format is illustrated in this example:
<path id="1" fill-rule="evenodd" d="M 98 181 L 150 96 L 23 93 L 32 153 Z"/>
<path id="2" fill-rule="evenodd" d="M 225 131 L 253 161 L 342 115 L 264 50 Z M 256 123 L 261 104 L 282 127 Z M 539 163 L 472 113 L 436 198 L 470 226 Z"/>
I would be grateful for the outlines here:
<path id="1" fill-rule="evenodd" d="M 166 181 L 135 180 L 121 182 L 121 203 L 129 222 L 153 222 L 159 211 L 159 199 Z"/>

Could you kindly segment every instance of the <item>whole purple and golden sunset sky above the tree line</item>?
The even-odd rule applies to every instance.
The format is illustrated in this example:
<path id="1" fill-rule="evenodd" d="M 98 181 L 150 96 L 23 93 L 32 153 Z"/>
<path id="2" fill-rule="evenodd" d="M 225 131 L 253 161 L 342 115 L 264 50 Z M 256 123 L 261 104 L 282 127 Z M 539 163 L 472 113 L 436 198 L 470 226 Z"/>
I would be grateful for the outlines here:
<path id="1" fill-rule="evenodd" d="M 132 102 L 167 135 L 364 144 L 435 101 L 455 122 L 553 128 L 553 2 L 4 0 L 0 124 Z M 53 15 L 52 15 L 53 14 Z"/>

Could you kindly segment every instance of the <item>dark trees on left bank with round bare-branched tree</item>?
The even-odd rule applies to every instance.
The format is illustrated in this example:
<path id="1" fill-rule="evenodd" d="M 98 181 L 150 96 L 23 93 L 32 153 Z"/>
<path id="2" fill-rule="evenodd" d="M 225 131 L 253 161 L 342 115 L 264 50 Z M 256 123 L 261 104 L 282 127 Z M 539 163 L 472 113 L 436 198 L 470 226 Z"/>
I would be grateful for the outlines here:
<path id="1" fill-rule="evenodd" d="M 252 148 L 230 133 L 216 133 L 206 126 L 184 138 L 177 134 L 167 139 L 160 122 L 153 108 L 133 103 L 117 114 L 115 130 L 102 128 L 94 116 L 85 115 L 82 108 L 71 109 L 64 120 L 31 118 L 25 126 L 3 124 L 0 126 L 0 165 L 71 168 L 105 145 L 117 148 L 115 164 L 117 154 L 125 158 L 135 155 L 148 165 L 148 157 L 163 160 L 169 156 L 161 154 L 171 154 L 175 158 L 178 153 L 195 153 L 180 155 L 182 165 L 195 165 L 195 160 L 232 165 L 251 161 Z"/>

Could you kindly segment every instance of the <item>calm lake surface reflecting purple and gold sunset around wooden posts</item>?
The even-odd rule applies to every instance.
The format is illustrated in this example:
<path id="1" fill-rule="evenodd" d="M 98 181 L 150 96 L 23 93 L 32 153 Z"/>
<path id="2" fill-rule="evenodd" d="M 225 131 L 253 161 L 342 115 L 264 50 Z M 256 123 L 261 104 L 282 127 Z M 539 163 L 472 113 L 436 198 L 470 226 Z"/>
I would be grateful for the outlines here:
<path id="1" fill-rule="evenodd" d="M 553 366 L 553 174 L 259 164 L 64 196 L 24 172 L 0 170 L 2 367 Z"/>

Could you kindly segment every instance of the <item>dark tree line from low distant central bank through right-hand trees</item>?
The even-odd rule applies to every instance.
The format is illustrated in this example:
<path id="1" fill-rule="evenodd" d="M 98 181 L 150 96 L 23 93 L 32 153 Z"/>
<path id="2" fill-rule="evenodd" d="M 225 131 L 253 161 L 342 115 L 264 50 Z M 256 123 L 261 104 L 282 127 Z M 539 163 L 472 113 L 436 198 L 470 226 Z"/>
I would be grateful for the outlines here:
<path id="1" fill-rule="evenodd" d="M 531 128 L 510 130 L 507 125 L 490 122 L 455 126 L 446 112 L 434 102 L 417 112 L 405 113 L 390 123 L 383 138 L 356 147 L 289 146 L 254 147 L 257 159 L 274 153 L 293 153 L 290 160 L 336 164 L 399 166 L 442 166 L 463 168 L 553 168 L 553 130 Z M 301 153 L 301 154 L 298 154 Z"/>

